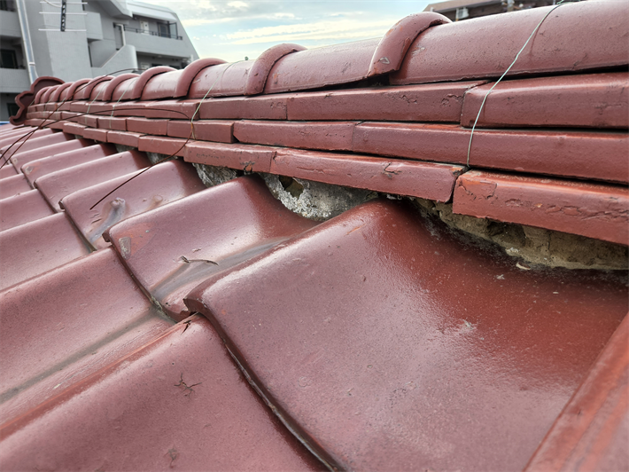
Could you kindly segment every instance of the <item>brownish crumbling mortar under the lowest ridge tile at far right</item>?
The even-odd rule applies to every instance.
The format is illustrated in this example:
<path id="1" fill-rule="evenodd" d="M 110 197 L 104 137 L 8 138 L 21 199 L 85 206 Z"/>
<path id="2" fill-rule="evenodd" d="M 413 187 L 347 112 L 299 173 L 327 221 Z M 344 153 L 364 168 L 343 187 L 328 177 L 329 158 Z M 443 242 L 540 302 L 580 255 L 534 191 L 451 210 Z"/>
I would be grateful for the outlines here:
<path id="1" fill-rule="evenodd" d="M 414 199 L 424 215 L 438 216 L 451 228 L 472 234 L 504 248 L 509 256 L 528 264 L 567 269 L 629 269 L 629 248 L 576 234 L 523 224 L 509 224 L 474 216 L 456 215 L 452 203 Z"/>

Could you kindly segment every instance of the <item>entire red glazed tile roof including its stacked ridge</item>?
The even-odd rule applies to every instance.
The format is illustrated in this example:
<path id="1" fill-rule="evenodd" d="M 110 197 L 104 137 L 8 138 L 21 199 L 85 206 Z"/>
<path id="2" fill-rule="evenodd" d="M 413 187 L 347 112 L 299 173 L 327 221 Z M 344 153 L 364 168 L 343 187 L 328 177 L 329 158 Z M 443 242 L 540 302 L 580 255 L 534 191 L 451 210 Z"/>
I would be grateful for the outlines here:
<path id="1" fill-rule="evenodd" d="M 0 127 L 30 136 L 0 171 L 26 191 L 0 467 L 320 468 L 298 440 L 347 470 L 629 464 L 629 10 L 551 8 L 35 81 Z"/>

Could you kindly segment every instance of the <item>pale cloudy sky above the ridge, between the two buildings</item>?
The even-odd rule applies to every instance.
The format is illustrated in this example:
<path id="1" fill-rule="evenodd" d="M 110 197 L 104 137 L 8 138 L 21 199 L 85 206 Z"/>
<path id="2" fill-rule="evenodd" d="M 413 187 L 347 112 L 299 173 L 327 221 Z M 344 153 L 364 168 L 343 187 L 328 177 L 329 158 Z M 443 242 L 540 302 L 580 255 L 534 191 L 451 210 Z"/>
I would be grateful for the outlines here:
<path id="1" fill-rule="evenodd" d="M 201 58 L 257 58 L 278 43 L 308 49 L 382 36 L 437 0 L 142 0 L 174 10 Z"/>

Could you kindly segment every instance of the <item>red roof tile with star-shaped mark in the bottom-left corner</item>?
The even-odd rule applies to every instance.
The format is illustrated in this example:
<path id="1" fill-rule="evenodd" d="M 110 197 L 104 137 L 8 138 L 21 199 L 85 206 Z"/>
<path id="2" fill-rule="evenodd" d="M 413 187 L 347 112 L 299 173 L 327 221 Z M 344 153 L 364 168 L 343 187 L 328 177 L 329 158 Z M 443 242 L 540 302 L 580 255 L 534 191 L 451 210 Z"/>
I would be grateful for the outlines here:
<path id="1" fill-rule="evenodd" d="M 88 426 L 89 425 L 89 426 Z M 322 471 L 199 317 L 0 430 L 0 468 Z"/>

